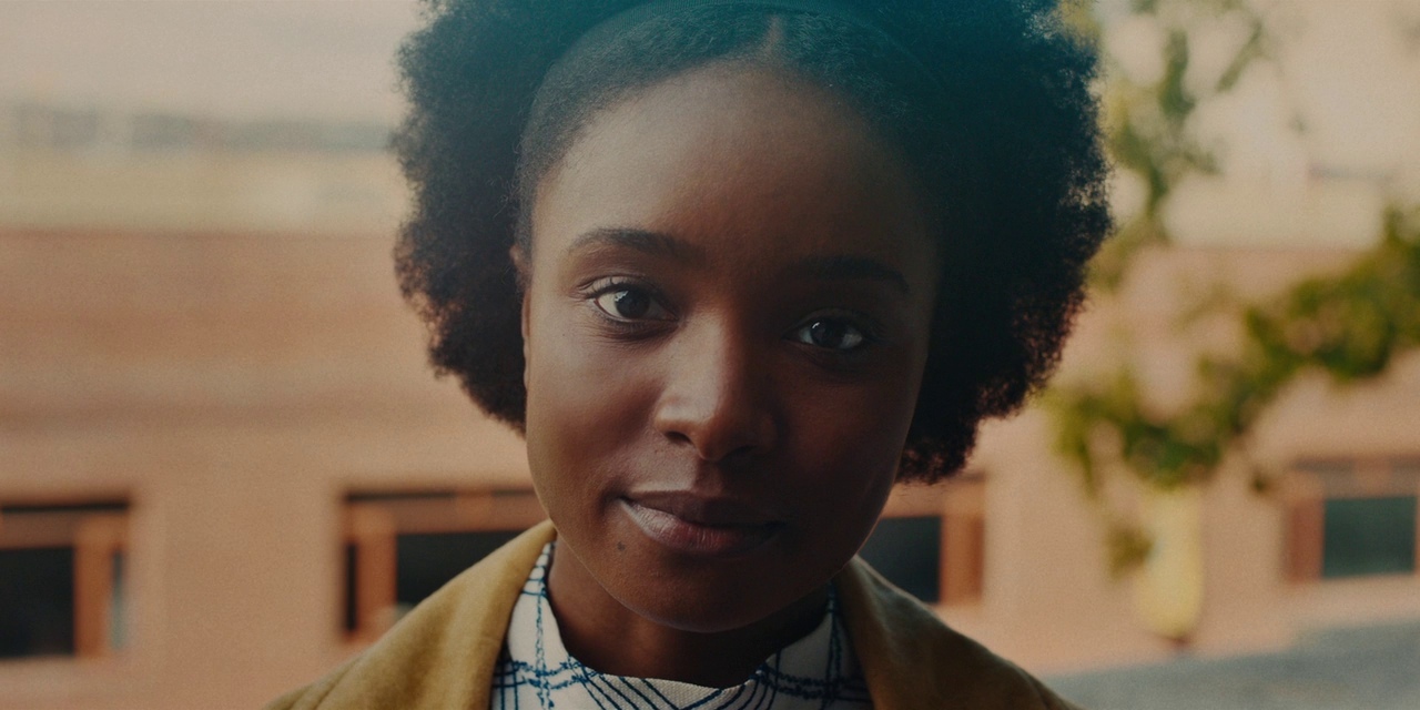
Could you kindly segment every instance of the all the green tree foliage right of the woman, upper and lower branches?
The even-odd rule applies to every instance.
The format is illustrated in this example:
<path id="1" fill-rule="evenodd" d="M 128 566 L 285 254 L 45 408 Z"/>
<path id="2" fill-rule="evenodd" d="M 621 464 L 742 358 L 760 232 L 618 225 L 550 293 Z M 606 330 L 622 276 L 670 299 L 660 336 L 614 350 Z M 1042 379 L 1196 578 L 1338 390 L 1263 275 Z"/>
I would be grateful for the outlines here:
<path id="1" fill-rule="evenodd" d="M 1066 13 L 1079 31 L 1100 37 L 1083 6 Z M 1143 197 L 1095 264 L 1105 300 L 1118 297 L 1142 251 L 1172 244 L 1164 217 L 1176 187 L 1220 170 L 1196 136 L 1198 108 L 1233 91 L 1272 50 L 1264 17 L 1242 0 L 1133 0 L 1126 17 L 1154 23 L 1162 62 L 1146 78 L 1129 75 L 1118 58 L 1108 62 L 1115 70 L 1102 89 L 1109 151 L 1116 169 L 1143 186 Z M 1206 23 L 1228 23 L 1242 40 L 1217 75 L 1200 78 L 1190 75 L 1191 43 Z M 1103 518 L 1116 574 L 1137 568 L 1153 544 L 1139 513 L 1106 494 L 1116 479 L 1152 491 L 1206 486 L 1230 457 L 1247 460 L 1258 417 L 1298 376 L 1366 381 L 1420 345 L 1420 212 L 1389 209 L 1379 243 L 1339 275 L 1301 281 L 1252 305 L 1213 295 L 1191 315 L 1237 318 L 1242 335 L 1235 349 L 1197 356 L 1187 402 L 1159 410 L 1127 361 L 1093 382 L 1056 386 L 1045 399 L 1056 449 Z M 1132 344 L 1122 338 L 1127 351 Z M 1257 488 L 1267 480 L 1255 476 Z"/>

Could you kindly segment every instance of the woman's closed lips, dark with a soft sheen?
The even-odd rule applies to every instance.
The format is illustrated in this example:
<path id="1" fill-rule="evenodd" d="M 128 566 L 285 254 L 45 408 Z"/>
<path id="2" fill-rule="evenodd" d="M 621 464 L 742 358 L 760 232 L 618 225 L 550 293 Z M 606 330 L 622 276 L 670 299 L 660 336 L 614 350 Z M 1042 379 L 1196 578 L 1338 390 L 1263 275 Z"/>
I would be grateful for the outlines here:
<path id="1" fill-rule="evenodd" d="M 694 493 L 643 493 L 619 503 L 646 537 L 687 555 L 743 555 L 784 527 L 757 506 Z"/>

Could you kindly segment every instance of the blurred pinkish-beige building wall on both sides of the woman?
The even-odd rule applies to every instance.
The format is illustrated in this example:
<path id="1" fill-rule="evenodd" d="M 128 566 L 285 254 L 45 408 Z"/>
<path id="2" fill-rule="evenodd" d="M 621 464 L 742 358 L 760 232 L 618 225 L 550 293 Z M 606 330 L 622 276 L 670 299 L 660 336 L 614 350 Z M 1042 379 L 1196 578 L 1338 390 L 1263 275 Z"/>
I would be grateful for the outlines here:
<path id="1" fill-rule="evenodd" d="M 352 650 L 338 630 L 345 491 L 525 484 L 520 442 L 430 376 L 389 247 L 337 234 L 0 233 L 0 501 L 126 494 L 133 565 L 129 649 L 0 662 L 0 707 L 256 706 Z M 1261 294 L 1343 256 L 1176 253 L 1145 264 L 1119 318 L 1167 339 L 1180 283 L 1223 274 Z M 1082 324 L 1066 376 L 1110 356 L 1110 322 L 1096 311 Z M 1150 352 L 1160 396 L 1181 396 L 1187 358 Z M 1257 450 L 1284 467 L 1420 453 L 1417 408 L 1414 358 L 1355 392 L 1305 383 Z M 1099 523 L 1048 442 L 1038 412 L 987 427 L 973 464 L 988 477 L 984 596 L 944 615 L 1037 670 L 1167 657 L 1135 621 L 1127 584 L 1108 578 Z M 1204 504 L 1200 652 L 1420 618 L 1414 577 L 1284 582 L 1281 508 L 1231 473 Z"/>

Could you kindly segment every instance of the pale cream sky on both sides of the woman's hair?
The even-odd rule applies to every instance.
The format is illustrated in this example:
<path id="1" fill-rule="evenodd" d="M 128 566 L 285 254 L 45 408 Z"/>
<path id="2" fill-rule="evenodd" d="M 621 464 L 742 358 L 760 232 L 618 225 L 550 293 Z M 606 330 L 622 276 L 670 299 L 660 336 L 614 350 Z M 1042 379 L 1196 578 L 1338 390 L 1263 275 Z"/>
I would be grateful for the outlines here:
<path id="1" fill-rule="evenodd" d="M 1173 223 L 1198 241 L 1370 239 L 1387 195 L 1420 199 L 1420 0 L 1257 4 L 1278 62 L 1200 116 L 1227 175 L 1180 190 Z M 393 124 L 392 57 L 416 14 L 413 0 L 4 0 L 0 102 Z M 1152 71 L 1147 28 L 1108 41 Z M 1210 41 L 1233 38 L 1196 47 L 1200 72 Z"/>

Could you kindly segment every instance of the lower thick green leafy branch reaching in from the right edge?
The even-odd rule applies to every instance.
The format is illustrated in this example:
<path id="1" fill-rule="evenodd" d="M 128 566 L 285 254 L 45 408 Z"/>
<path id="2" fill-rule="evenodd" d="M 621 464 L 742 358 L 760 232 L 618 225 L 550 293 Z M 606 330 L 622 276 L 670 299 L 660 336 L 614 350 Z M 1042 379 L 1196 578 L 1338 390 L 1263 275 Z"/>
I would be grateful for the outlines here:
<path id="1" fill-rule="evenodd" d="M 1149 406 L 1127 368 L 1049 393 L 1056 449 L 1092 500 L 1106 504 L 1100 490 L 1110 470 L 1156 490 L 1207 484 L 1227 456 L 1247 456 L 1258 417 L 1299 376 L 1362 382 L 1420 348 L 1420 209 L 1392 207 L 1379 243 L 1343 273 L 1241 307 L 1240 320 L 1238 348 L 1200 355 L 1193 398 L 1169 412 Z M 1127 571 L 1147 554 L 1149 540 L 1136 521 L 1105 513 L 1115 569 Z"/>

